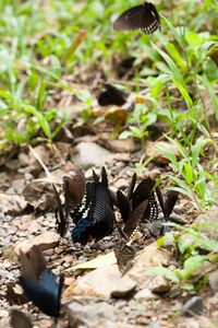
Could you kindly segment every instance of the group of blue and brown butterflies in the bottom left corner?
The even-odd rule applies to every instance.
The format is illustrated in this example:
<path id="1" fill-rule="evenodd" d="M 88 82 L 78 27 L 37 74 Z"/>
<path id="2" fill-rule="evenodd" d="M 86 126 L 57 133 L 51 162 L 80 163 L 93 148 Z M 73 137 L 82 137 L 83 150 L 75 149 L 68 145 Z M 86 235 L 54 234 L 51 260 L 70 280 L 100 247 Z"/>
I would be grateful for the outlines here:
<path id="1" fill-rule="evenodd" d="M 24 290 L 22 304 L 32 301 L 40 311 L 58 321 L 60 316 L 60 297 L 63 286 L 63 273 L 58 277 L 46 268 L 44 255 L 38 246 L 33 246 L 28 254 L 21 251 L 21 276 L 19 282 Z M 21 312 L 11 314 L 13 328 L 31 328 L 29 319 Z"/>

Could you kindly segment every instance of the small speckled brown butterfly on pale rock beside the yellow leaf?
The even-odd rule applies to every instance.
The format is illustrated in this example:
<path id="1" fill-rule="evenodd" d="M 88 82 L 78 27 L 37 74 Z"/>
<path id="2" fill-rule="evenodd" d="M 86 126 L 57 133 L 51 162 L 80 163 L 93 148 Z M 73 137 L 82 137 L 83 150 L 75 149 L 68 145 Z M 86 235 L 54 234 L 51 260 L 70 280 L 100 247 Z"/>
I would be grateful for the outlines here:
<path id="1" fill-rule="evenodd" d="M 126 245 L 126 242 L 121 239 L 114 246 L 114 254 L 118 261 L 118 268 L 122 276 L 130 269 L 131 262 L 135 257 L 135 250 L 133 247 Z"/>

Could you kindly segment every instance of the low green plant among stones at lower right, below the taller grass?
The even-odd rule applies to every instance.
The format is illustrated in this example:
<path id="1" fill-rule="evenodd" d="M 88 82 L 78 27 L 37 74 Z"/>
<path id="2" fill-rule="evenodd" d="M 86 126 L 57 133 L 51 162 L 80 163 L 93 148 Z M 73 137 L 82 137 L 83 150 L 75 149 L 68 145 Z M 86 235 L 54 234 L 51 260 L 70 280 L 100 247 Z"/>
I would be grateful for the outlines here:
<path id="1" fill-rule="evenodd" d="M 207 283 L 207 279 L 197 281 L 197 284 L 193 281 L 192 274 L 197 268 L 199 268 L 204 260 L 210 262 L 217 262 L 218 257 L 215 253 L 218 253 L 218 242 L 216 239 L 208 238 L 204 233 L 197 230 L 205 227 L 218 229 L 217 224 L 204 224 L 196 227 L 183 227 L 179 224 L 169 223 L 168 225 L 174 226 L 175 229 L 183 230 L 186 232 L 185 235 L 180 233 L 166 233 L 166 235 L 157 241 L 159 247 L 162 246 L 166 239 L 171 239 L 174 245 L 174 249 L 178 248 L 180 251 L 180 265 L 181 269 L 175 269 L 171 271 L 167 268 L 156 267 L 145 271 L 145 274 L 164 274 L 167 279 L 174 283 L 178 283 L 181 289 L 184 290 L 196 290 L 202 285 Z M 197 247 L 202 247 L 208 251 L 210 255 L 199 255 Z"/>

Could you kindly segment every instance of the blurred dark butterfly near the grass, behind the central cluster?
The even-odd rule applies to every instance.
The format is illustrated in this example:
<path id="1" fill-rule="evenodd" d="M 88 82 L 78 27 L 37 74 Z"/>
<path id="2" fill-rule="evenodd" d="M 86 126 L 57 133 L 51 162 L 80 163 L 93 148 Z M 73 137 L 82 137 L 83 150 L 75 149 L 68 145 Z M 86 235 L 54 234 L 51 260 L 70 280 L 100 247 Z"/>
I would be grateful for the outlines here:
<path id="1" fill-rule="evenodd" d="M 117 105 L 123 106 L 126 112 L 131 112 L 135 107 L 135 102 L 130 97 L 130 93 L 120 90 L 109 83 L 104 84 L 104 91 L 98 95 L 98 104 L 100 106 Z"/>

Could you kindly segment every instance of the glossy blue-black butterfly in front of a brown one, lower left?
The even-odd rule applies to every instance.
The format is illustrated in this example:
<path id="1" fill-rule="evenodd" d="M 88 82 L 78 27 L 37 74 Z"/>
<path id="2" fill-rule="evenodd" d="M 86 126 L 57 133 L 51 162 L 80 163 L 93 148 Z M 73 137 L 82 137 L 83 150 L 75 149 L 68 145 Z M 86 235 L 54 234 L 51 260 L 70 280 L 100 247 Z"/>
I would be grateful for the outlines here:
<path id="1" fill-rule="evenodd" d="M 63 280 L 63 273 L 60 273 L 59 283 L 57 283 L 56 274 L 49 270 L 41 273 L 39 281 L 28 280 L 23 276 L 19 277 L 20 284 L 26 296 L 45 314 L 55 317 L 56 323 L 60 316 L 60 297 Z"/>

